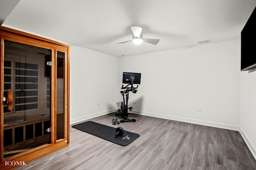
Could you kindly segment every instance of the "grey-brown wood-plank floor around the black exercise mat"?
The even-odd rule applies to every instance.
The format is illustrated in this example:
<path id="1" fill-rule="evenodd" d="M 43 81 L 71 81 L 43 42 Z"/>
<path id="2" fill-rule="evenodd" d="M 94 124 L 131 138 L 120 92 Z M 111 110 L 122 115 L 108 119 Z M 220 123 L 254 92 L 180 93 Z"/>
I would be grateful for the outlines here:
<path id="1" fill-rule="evenodd" d="M 112 125 L 113 117 L 90 121 L 121 126 L 140 137 L 122 147 L 70 125 L 68 147 L 17 170 L 256 170 L 238 131 L 137 114 L 129 114 L 136 122 Z"/>

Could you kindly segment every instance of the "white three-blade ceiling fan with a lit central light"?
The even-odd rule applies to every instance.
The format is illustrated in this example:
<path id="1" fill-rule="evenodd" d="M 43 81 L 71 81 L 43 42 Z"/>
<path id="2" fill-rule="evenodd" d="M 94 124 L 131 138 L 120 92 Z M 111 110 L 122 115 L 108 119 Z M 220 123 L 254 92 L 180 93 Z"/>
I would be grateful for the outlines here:
<path id="1" fill-rule="evenodd" d="M 140 34 L 141 31 L 142 31 L 141 27 L 131 26 L 131 29 L 132 29 L 132 32 L 133 32 L 133 36 L 132 36 L 132 40 L 130 40 L 130 41 L 133 41 L 136 44 L 140 44 L 140 43 L 142 43 L 142 41 L 144 41 L 146 43 L 157 45 L 157 43 L 160 41 L 160 39 L 143 38 L 142 35 Z M 122 43 L 128 43 L 130 41 L 124 41 Z M 122 43 L 116 43 L 116 44 L 122 44 Z"/>

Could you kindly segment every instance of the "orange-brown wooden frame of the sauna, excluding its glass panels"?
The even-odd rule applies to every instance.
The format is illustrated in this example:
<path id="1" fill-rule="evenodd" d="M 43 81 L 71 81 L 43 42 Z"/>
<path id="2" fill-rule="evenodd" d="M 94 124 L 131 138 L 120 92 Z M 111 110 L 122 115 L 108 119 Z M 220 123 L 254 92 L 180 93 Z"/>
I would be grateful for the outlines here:
<path id="1" fill-rule="evenodd" d="M 19 165 L 15 166 L 6 166 L 6 162 L 8 161 L 24 161 L 25 163 L 31 162 L 33 160 L 36 160 L 42 156 L 45 156 L 47 154 L 50 154 L 56 150 L 62 149 L 64 147 L 68 147 L 69 144 L 69 72 L 70 72 L 70 46 L 65 45 L 63 43 L 59 43 L 50 39 L 46 39 L 43 37 L 39 37 L 36 35 L 32 35 L 29 33 L 24 33 L 22 31 L 17 31 L 14 29 L 10 29 L 7 27 L 2 27 L 0 26 L 0 53 L 1 53 L 1 64 L 0 64 L 0 110 L 1 110 L 1 115 L 0 115 L 0 169 L 1 170 L 7 170 L 7 169 L 14 169 L 17 168 Z M 14 41 L 17 43 L 23 43 L 26 45 L 32 45 L 35 47 L 41 47 L 45 49 L 50 49 L 52 51 L 52 66 L 51 66 L 51 106 L 50 106 L 50 124 L 51 124 L 51 133 L 50 133 L 50 139 L 51 143 L 42 145 L 40 147 L 36 147 L 32 150 L 28 150 L 26 152 L 23 152 L 21 154 L 17 154 L 12 157 L 4 158 L 3 156 L 3 131 L 4 127 L 7 126 L 7 128 L 12 128 L 8 127 L 8 124 L 4 124 L 4 102 L 3 102 L 3 96 L 4 96 L 4 40 L 9 40 L 9 41 Z M 57 127 L 57 67 L 56 67 L 56 62 L 57 62 L 57 51 L 65 53 L 65 64 L 64 64 L 64 139 L 59 139 L 57 140 L 57 135 L 56 135 L 56 127 Z M 44 121 L 43 119 L 35 119 L 36 122 L 42 122 Z M 24 121 L 24 124 L 21 124 L 20 126 L 25 127 L 26 125 L 33 125 L 36 122 L 32 121 Z M 22 123 L 22 122 L 20 122 Z M 18 123 L 14 123 L 14 126 L 19 126 Z M 34 126 L 35 127 L 35 126 Z M 36 139 L 33 137 L 33 139 L 30 139 L 30 141 L 33 141 Z"/>

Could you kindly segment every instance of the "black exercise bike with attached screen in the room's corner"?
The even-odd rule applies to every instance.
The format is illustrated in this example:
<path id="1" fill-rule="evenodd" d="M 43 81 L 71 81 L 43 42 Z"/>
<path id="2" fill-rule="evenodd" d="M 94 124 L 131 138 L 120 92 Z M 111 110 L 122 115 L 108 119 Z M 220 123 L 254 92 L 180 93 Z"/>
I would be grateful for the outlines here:
<path id="1" fill-rule="evenodd" d="M 122 120 L 120 122 L 130 122 L 130 121 L 136 121 L 136 119 L 129 119 L 128 118 L 128 109 L 129 111 L 132 111 L 133 107 L 128 107 L 128 99 L 129 99 L 129 92 L 136 93 L 137 88 L 134 88 L 133 84 L 140 84 L 140 73 L 130 73 L 130 72 L 123 72 L 123 83 L 128 83 L 127 86 L 122 85 L 121 89 L 124 89 L 120 91 L 120 93 L 123 96 L 123 101 L 121 102 L 121 107 L 118 109 L 118 113 L 116 113 L 116 116 L 122 116 Z M 124 95 L 126 96 L 126 99 L 124 99 Z"/>

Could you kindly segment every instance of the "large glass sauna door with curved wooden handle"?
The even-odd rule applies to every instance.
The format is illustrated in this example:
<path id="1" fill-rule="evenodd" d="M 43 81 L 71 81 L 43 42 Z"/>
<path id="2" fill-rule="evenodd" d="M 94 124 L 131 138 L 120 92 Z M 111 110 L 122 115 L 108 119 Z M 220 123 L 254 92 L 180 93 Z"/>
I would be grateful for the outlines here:
<path id="1" fill-rule="evenodd" d="M 4 41 L 4 158 L 51 142 L 51 59 L 50 49 Z"/>

